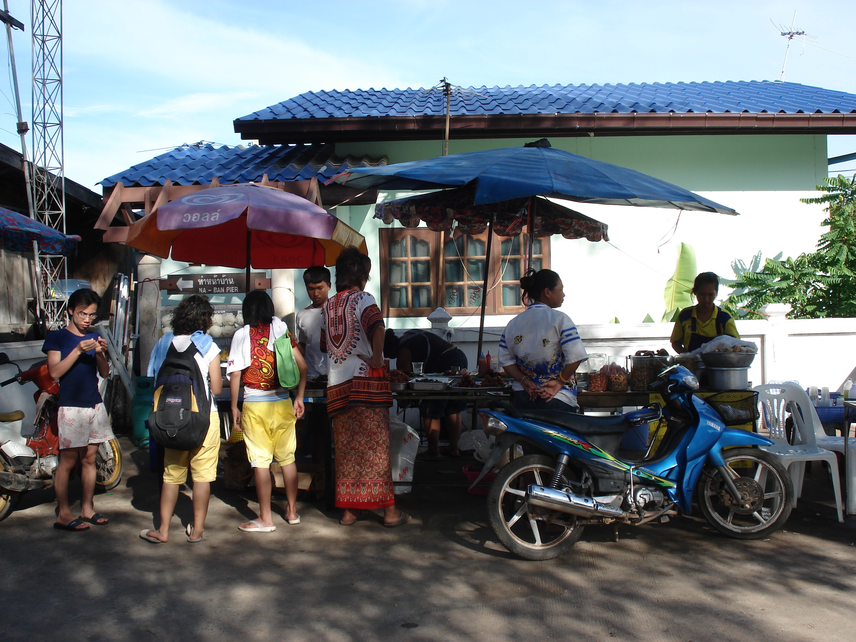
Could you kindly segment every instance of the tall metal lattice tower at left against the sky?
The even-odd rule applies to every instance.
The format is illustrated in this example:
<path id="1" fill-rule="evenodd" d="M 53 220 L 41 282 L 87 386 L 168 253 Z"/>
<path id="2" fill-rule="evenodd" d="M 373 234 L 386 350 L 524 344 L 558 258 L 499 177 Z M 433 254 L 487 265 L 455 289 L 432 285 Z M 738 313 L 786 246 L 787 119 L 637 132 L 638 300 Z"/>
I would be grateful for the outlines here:
<path id="1" fill-rule="evenodd" d="M 33 214 L 65 233 L 65 163 L 62 139 L 62 0 L 31 0 L 33 34 Z M 48 327 L 63 324 L 68 278 L 65 257 L 37 257 L 39 300 Z M 64 288 L 63 288 L 64 290 Z"/>

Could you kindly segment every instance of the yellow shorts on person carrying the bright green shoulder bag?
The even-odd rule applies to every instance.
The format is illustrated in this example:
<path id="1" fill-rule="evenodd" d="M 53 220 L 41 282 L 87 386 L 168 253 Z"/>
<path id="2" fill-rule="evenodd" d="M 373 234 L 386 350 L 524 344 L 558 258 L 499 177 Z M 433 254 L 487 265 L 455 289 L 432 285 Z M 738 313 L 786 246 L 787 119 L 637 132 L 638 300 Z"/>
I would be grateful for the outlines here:
<path id="1" fill-rule="evenodd" d="M 294 431 L 294 407 L 290 399 L 281 401 L 244 401 L 241 430 L 247 443 L 247 460 L 253 468 L 270 468 L 276 459 L 280 466 L 294 463 L 297 433 Z"/>

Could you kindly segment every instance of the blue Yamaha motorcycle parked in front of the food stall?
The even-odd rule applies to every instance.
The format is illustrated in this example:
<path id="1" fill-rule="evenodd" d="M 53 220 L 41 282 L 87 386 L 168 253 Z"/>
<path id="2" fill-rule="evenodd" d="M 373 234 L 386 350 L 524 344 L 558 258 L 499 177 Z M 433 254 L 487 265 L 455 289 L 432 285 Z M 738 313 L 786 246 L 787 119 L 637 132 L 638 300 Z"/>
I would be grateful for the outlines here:
<path id="1" fill-rule="evenodd" d="M 754 396 L 735 395 L 748 397 L 736 409 L 711 405 L 693 395 L 698 379 L 682 366 L 661 372 L 650 389 L 663 396 L 663 407 L 612 417 L 504 402 L 482 411 L 496 443 L 479 479 L 511 456 L 488 493 L 490 526 L 508 550 L 549 560 L 570 549 L 586 525 L 613 524 L 617 538 L 620 523 L 690 514 L 693 494 L 710 526 L 729 537 L 765 538 L 784 525 L 794 486 L 782 464 L 758 448 L 773 443 L 726 427 L 758 419 Z M 665 424 L 662 440 L 645 453 L 620 449 L 625 432 L 651 422 Z"/>

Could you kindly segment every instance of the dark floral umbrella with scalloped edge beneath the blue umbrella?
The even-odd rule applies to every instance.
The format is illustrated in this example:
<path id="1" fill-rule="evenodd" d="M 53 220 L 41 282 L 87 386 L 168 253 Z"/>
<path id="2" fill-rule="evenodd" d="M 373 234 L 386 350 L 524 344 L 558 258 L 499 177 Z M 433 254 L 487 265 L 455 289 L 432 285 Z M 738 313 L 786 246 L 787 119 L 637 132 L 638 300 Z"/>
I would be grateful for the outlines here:
<path id="1" fill-rule="evenodd" d="M 451 232 L 453 224 L 464 234 L 482 234 L 496 217 L 493 230 L 497 235 L 520 235 L 528 220 L 527 206 L 532 207 L 533 235 L 561 234 L 566 239 L 609 241 L 607 224 L 580 214 L 539 196 L 532 199 L 511 199 L 500 203 L 473 205 L 473 187 L 446 189 L 441 192 L 408 196 L 375 205 L 375 218 L 389 225 L 393 219 L 406 228 L 415 228 L 425 221 L 435 232 Z"/>

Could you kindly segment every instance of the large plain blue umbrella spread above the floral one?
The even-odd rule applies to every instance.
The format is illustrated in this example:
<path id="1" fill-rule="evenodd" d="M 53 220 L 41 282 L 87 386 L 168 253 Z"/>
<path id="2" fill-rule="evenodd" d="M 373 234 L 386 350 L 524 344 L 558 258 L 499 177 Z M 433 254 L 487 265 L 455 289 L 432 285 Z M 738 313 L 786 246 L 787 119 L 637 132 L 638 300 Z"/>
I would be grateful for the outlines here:
<path id="1" fill-rule="evenodd" d="M 547 196 L 600 205 L 737 214 L 730 207 L 634 169 L 553 149 L 546 139 L 522 147 L 452 154 L 380 167 L 355 167 L 334 176 L 333 180 L 358 189 L 385 190 L 438 189 L 474 182 L 473 205 Z"/>

